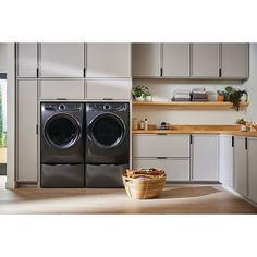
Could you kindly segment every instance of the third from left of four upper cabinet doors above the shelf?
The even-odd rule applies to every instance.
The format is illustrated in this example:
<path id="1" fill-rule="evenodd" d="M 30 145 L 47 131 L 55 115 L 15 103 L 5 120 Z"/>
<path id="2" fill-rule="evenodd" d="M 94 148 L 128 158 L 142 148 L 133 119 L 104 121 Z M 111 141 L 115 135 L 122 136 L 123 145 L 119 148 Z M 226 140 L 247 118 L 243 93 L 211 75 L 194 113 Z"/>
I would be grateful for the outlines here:
<path id="1" fill-rule="evenodd" d="M 192 76 L 219 77 L 219 44 L 192 44 Z"/>

